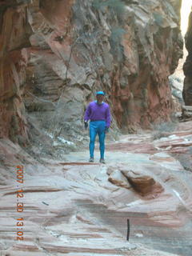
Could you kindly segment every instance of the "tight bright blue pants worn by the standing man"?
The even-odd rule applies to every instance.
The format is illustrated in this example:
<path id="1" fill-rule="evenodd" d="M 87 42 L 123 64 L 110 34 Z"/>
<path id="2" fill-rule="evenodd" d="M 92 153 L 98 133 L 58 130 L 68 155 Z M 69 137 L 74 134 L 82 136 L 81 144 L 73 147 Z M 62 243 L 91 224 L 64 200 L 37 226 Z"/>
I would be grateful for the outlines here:
<path id="1" fill-rule="evenodd" d="M 97 134 L 99 138 L 99 150 L 101 158 L 104 158 L 106 138 L 105 129 L 105 121 L 90 121 L 90 158 L 94 158 L 94 142 Z"/>

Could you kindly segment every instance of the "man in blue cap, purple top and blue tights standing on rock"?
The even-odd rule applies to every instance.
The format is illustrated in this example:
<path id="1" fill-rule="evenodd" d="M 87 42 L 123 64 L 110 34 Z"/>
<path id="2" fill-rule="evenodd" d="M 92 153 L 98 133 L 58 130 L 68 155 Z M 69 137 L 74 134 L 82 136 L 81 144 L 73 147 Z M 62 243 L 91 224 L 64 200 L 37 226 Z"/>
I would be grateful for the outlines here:
<path id="1" fill-rule="evenodd" d="M 99 138 L 99 150 L 100 150 L 100 162 L 105 163 L 104 153 L 105 153 L 105 138 L 106 133 L 110 128 L 110 106 L 103 102 L 105 93 L 103 91 L 98 91 L 96 93 L 97 101 L 90 102 L 86 108 L 86 113 L 84 116 L 85 128 L 88 127 L 88 121 L 90 120 L 90 160 L 89 162 L 94 162 L 94 142 L 96 135 Z"/>

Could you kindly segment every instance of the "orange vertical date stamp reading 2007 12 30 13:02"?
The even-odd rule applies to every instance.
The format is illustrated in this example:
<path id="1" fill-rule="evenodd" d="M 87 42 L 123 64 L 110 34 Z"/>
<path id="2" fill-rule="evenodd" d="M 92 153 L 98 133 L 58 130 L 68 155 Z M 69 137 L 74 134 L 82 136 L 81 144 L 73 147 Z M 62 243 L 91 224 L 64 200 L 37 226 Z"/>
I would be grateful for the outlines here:
<path id="1" fill-rule="evenodd" d="M 24 182 L 24 174 L 23 174 L 23 166 L 16 166 L 17 168 L 17 177 L 16 177 L 16 182 L 17 182 L 17 190 L 16 190 L 16 198 L 17 198 L 17 212 L 20 214 L 18 218 L 16 218 L 17 223 L 17 238 L 16 240 L 24 240 L 23 237 L 23 228 L 24 228 L 24 219 L 22 217 L 22 212 L 24 209 L 24 203 L 23 198 L 24 198 L 24 190 L 23 190 L 23 182 Z"/>

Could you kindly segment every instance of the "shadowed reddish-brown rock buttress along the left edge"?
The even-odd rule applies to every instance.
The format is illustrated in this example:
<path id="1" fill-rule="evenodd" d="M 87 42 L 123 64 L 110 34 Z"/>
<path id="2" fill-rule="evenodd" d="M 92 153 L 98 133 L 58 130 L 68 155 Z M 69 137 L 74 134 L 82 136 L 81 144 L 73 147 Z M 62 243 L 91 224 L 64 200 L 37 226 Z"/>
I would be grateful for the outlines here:
<path id="1" fill-rule="evenodd" d="M 23 144 L 28 138 L 22 99 L 26 82 L 25 47 L 30 46 L 27 5 L 1 1 L 0 21 L 0 138 L 9 137 Z"/>

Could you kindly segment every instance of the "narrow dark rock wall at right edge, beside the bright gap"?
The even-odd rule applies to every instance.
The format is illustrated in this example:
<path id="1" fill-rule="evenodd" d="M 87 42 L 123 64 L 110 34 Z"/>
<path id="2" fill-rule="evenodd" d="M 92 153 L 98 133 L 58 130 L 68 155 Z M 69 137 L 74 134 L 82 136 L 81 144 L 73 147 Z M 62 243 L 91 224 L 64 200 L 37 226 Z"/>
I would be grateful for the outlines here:
<path id="1" fill-rule="evenodd" d="M 186 50 L 188 50 L 188 56 L 183 66 L 183 71 L 186 76 L 183 87 L 183 99 L 186 106 L 192 106 L 192 12 L 189 17 L 189 26 L 185 36 Z"/>

